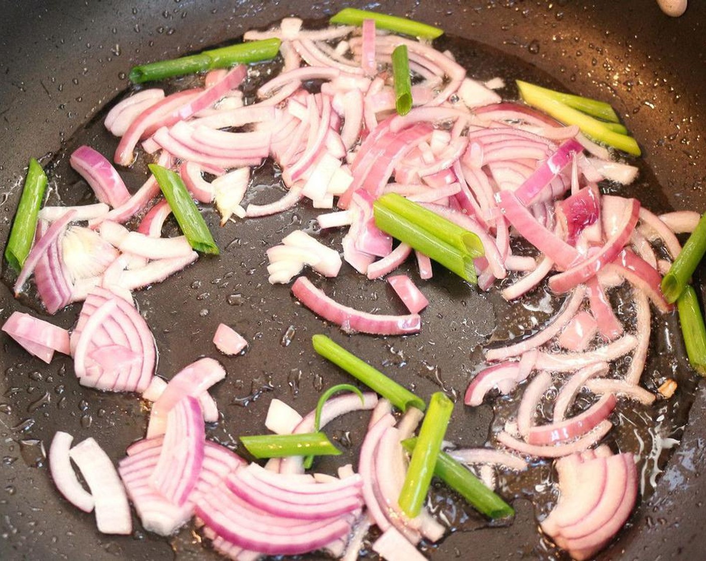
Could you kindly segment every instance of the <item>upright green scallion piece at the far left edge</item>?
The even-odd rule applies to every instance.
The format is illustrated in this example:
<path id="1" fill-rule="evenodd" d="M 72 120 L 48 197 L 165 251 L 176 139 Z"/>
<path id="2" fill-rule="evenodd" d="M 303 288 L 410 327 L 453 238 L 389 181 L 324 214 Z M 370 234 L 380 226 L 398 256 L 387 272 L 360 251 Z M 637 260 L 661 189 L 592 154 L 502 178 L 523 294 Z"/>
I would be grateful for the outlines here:
<path id="1" fill-rule="evenodd" d="M 30 159 L 30 167 L 22 188 L 20 204 L 5 248 L 5 258 L 10 266 L 19 272 L 30 254 L 35 240 L 37 218 L 47 188 L 47 175 L 36 159 Z"/>

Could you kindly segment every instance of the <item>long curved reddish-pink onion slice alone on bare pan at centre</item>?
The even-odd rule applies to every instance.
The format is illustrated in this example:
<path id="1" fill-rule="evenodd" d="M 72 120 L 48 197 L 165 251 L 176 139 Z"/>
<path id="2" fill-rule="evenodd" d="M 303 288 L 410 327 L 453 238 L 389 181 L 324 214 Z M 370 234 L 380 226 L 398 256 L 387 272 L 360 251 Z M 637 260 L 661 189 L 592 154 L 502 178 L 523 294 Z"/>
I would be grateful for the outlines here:
<path id="1" fill-rule="evenodd" d="M 343 306 L 313 286 L 306 277 L 294 281 L 292 294 L 313 313 L 339 325 L 344 332 L 402 335 L 417 333 L 421 327 L 418 314 L 375 315 Z"/>

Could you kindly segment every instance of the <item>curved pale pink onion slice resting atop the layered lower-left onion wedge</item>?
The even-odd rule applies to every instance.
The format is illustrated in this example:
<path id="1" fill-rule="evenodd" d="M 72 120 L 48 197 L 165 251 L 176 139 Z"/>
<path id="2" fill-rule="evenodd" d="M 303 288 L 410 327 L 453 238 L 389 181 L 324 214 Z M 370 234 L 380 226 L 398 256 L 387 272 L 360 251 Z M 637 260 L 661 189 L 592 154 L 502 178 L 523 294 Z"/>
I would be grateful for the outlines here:
<path id="1" fill-rule="evenodd" d="M 186 396 L 198 397 L 216 382 L 225 378 L 225 370 L 213 358 L 200 358 L 179 371 L 169 380 L 167 389 L 152 404 L 147 438 L 164 434 L 167 414 Z"/>

